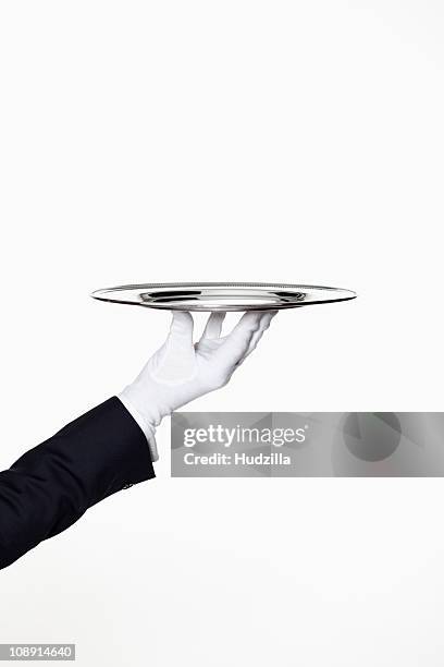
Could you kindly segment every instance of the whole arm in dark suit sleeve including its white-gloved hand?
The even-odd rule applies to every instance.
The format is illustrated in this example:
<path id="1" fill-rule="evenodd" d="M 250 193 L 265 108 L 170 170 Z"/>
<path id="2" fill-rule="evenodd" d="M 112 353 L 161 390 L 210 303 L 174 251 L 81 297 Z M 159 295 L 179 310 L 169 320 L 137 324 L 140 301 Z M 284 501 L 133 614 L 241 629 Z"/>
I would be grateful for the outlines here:
<path id="1" fill-rule="evenodd" d="M 197 343 L 193 317 L 175 312 L 164 344 L 134 383 L 0 473 L 0 569 L 61 533 L 86 510 L 155 476 L 156 427 L 189 401 L 224 386 L 255 350 L 275 312 L 246 313 L 221 336 L 213 313 Z"/>

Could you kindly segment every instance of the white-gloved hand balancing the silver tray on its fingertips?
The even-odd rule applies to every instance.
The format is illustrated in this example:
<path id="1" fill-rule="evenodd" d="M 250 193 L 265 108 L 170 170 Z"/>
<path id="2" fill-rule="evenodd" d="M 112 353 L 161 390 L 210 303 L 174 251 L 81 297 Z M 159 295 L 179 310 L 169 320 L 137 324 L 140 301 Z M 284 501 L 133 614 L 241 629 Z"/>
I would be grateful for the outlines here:
<path id="1" fill-rule="evenodd" d="M 198 343 L 193 343 L 193 316 L 173 311 L 170 333 L 138 377 L 119 399 L 145 433 L 151 458 L 159 456 L 156 427 L 195 398 L 226 385 L 252 352 L 276 311 L 245 313 L 229 336 L 221 337 L 225 313 L 211 313 Z"/>

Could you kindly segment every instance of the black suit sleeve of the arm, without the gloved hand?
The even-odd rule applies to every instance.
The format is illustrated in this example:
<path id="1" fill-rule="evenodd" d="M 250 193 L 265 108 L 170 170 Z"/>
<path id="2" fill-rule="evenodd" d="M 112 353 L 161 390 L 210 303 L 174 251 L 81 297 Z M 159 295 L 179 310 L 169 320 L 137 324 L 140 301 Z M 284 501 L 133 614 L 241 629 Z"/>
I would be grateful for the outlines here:
<path id="1" fill-rule="evenodd" d="M 121 401 L 94 408 L 0 473 L 0 568 L 151 477 L 148 442 Z"/>

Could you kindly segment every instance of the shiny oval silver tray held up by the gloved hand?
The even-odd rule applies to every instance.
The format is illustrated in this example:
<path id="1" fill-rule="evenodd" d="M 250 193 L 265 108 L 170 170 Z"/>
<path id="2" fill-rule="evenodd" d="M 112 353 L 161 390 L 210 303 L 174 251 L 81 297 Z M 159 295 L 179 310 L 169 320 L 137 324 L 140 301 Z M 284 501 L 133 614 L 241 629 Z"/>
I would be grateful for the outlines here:
<path id="1" fill-rule="evenodd" d="M 266 311 L 348 301 L 350 290 L 267 282 L 164 282 L 124 284 L 92 292 L 99 301 L 168 311 Z"/>

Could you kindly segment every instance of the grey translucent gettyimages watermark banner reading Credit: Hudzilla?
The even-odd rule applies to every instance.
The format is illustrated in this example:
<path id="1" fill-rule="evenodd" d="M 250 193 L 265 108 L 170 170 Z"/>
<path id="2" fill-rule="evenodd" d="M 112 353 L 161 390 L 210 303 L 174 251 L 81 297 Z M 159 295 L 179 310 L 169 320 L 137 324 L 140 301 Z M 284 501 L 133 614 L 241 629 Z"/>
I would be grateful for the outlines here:
<path id="1" fill-rule="evenodd" d="M 173 477 L 444 476 L 444 413 L 175 412 Z"/>

